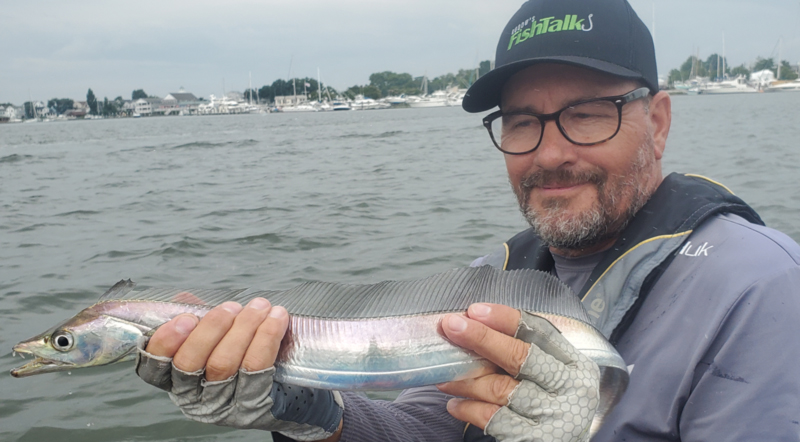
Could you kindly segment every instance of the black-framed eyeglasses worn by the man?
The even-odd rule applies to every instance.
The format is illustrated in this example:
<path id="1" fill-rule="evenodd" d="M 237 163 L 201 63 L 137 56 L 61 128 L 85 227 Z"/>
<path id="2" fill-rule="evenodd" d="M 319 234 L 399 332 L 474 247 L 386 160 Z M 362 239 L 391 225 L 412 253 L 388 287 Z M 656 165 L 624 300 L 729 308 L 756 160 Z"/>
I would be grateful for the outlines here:
<path id="1" fill-rule="evenodd" d="M 552 114 L 531 112 L 491 113 L 483 119 L 494 145 L 509 155 L 533 152 L 542 143 L 544 126 L 556 122 L 564 137 L 578 146 L 594 146 L 614 138 L 622 125 L 622 106 L 650 93 L 643 87 L 614 97 L 593 98 L 570 104 Z"/>

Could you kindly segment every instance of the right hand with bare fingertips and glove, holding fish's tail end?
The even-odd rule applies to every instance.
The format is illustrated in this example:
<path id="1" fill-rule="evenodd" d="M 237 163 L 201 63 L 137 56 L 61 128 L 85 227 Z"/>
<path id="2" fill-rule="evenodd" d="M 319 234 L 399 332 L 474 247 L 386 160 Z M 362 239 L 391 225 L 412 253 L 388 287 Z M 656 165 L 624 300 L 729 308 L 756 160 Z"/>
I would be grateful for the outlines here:
<path id="1" fill-rule="evenodd" d="M 597 409 L 600 372 L 547 320 L 502 305 L 448 315 L 445 335 L 505 373 L 439 385 L 447 410 L 500 441 L 584 441 Z M 512 336 L 516 336 L 512 337 Z"/>

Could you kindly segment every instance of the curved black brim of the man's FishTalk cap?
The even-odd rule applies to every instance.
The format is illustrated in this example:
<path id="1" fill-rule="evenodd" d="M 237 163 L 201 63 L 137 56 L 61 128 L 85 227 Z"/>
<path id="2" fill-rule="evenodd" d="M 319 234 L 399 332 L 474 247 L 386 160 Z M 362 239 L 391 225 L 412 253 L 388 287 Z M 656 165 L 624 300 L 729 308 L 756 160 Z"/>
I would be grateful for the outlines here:
<path id="1" fill-rule="evenodd" d="M 467 91 L 461 107 L 463 107 L 467 112 L 475 113 L 484 112 L 499 106 L 500 94 L 502 93 L 503 86 L 506 84 L 508 79 L 522 69 L 541 63 L 568 64 L 605 72 L 607 74 L 627 79 L 644 79 L 642 74 L 639 72 L 635 72 L 606 61 L 595 60 L 593 58 L 577 56 L 531 58 L 509 63 L 505 66 L 496 68 L 479 78 L 478 81 L 476 81 Z M 651 89 L 653 88 L 653 85 L 648 84 L 648 86 Z M 655 90 L 658 90 L 657 87 Z"/>

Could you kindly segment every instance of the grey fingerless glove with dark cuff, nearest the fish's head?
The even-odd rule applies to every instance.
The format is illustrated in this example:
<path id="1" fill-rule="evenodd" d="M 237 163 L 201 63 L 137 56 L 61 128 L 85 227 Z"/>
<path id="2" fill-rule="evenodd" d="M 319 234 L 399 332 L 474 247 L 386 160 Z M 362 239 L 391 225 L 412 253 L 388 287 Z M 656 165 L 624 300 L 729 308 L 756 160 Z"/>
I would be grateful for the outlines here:
<path id="1" fill-rule="evenodd" d="M 204 370 L 175 368 L 172 358 L 147 353 L 140 342 L 136 374 L 169 392 L 189 419 L 241 429 L 276 431 L 298 441 L 321 440 L 339 427 L 344 403 L 338 391 L 273 382 L 275 368 L 239 372 L 224 381 L 208 382 Z"/>

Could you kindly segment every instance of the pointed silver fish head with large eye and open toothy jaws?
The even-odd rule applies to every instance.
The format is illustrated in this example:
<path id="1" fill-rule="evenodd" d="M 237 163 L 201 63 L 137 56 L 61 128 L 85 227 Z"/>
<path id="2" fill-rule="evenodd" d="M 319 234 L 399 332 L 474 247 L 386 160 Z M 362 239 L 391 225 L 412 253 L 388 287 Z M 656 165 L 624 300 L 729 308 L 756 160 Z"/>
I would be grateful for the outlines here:
<path id="1" fill-rule="evenodd" d="M 11 370 L 11 375 L 19 378 L 130 360 L 146 331 L 90 307 L 15 345 L 15 353 L 32 355 L 34 360 Z"/>

